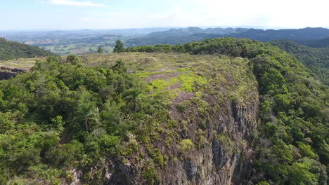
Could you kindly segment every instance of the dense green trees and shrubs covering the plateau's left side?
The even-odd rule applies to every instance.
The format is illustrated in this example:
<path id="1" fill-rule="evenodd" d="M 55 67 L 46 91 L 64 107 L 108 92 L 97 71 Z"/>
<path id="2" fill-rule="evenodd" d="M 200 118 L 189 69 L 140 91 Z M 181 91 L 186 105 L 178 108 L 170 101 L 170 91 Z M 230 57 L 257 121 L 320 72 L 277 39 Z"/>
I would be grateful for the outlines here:
<path id="1" fill-rule="evenodd" d="M 31 73 L 0 81 L 0 184 L 59 184 L 70 179 L 72 168 L 128 158 L 139 143 L 150 141 L 157 122 L 168 119 L 165 97 L 151 99 L 145 84 L 126 70 L 120 60 L 110 68 L 89 67 L 69 55 L 49 57 Z M 165 163 L 158 149 L 150 155 L 154 163 Z M 86 173 L 84 182 L 96 177 Z"/>

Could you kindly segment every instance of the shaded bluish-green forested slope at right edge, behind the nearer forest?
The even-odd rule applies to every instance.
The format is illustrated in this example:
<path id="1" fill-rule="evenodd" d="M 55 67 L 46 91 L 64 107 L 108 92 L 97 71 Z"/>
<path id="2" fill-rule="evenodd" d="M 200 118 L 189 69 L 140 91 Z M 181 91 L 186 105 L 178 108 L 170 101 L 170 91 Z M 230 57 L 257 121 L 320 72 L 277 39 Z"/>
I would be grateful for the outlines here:
<path id="1" fill-rule="evenodd" d="M 271 41 L 271 44 L 295 56 L 311 69 L 326 85 L 329 85 L 329 48 L 310 48 L 293 41 Z"/>

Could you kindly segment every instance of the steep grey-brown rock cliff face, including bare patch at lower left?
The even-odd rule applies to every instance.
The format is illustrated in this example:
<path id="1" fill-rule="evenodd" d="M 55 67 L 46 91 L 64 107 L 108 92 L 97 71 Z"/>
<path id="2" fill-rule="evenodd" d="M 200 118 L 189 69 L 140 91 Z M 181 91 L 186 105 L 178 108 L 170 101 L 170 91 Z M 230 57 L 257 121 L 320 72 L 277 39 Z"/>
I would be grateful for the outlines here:
<path id="1" fill-rule="evenodd" d="M 175 142 L 170 146 L 157 143 L 169 160 L 158 171 L 155 184 L 247 184 L 253 153 L 251 135 L 257 132 L 259 107 L 257 93 L 247 96 L 250 97 L 247 105 L 235 101 L 220 104 L 222 108 L 211 113 L 213 116 L 205 124 L 204 132 L 200 133 L 198 129 L 200 118 L 192 121 L 186 130 L 179 130 L 179 137 L 200 142 L 200 146 L 195 146 L 192 151 L 182 154 Z M 209 102 L 211 106 L 216 106 L 217 100 L 209 100 L 212 100 Z M 107 184 L 143 184 L 138 165 L 141 164 L 110 165 L 105 171 L 113 173 L 108 177 L 105 177 L 108 173 L 103 173 L 109 179 Z"/>

